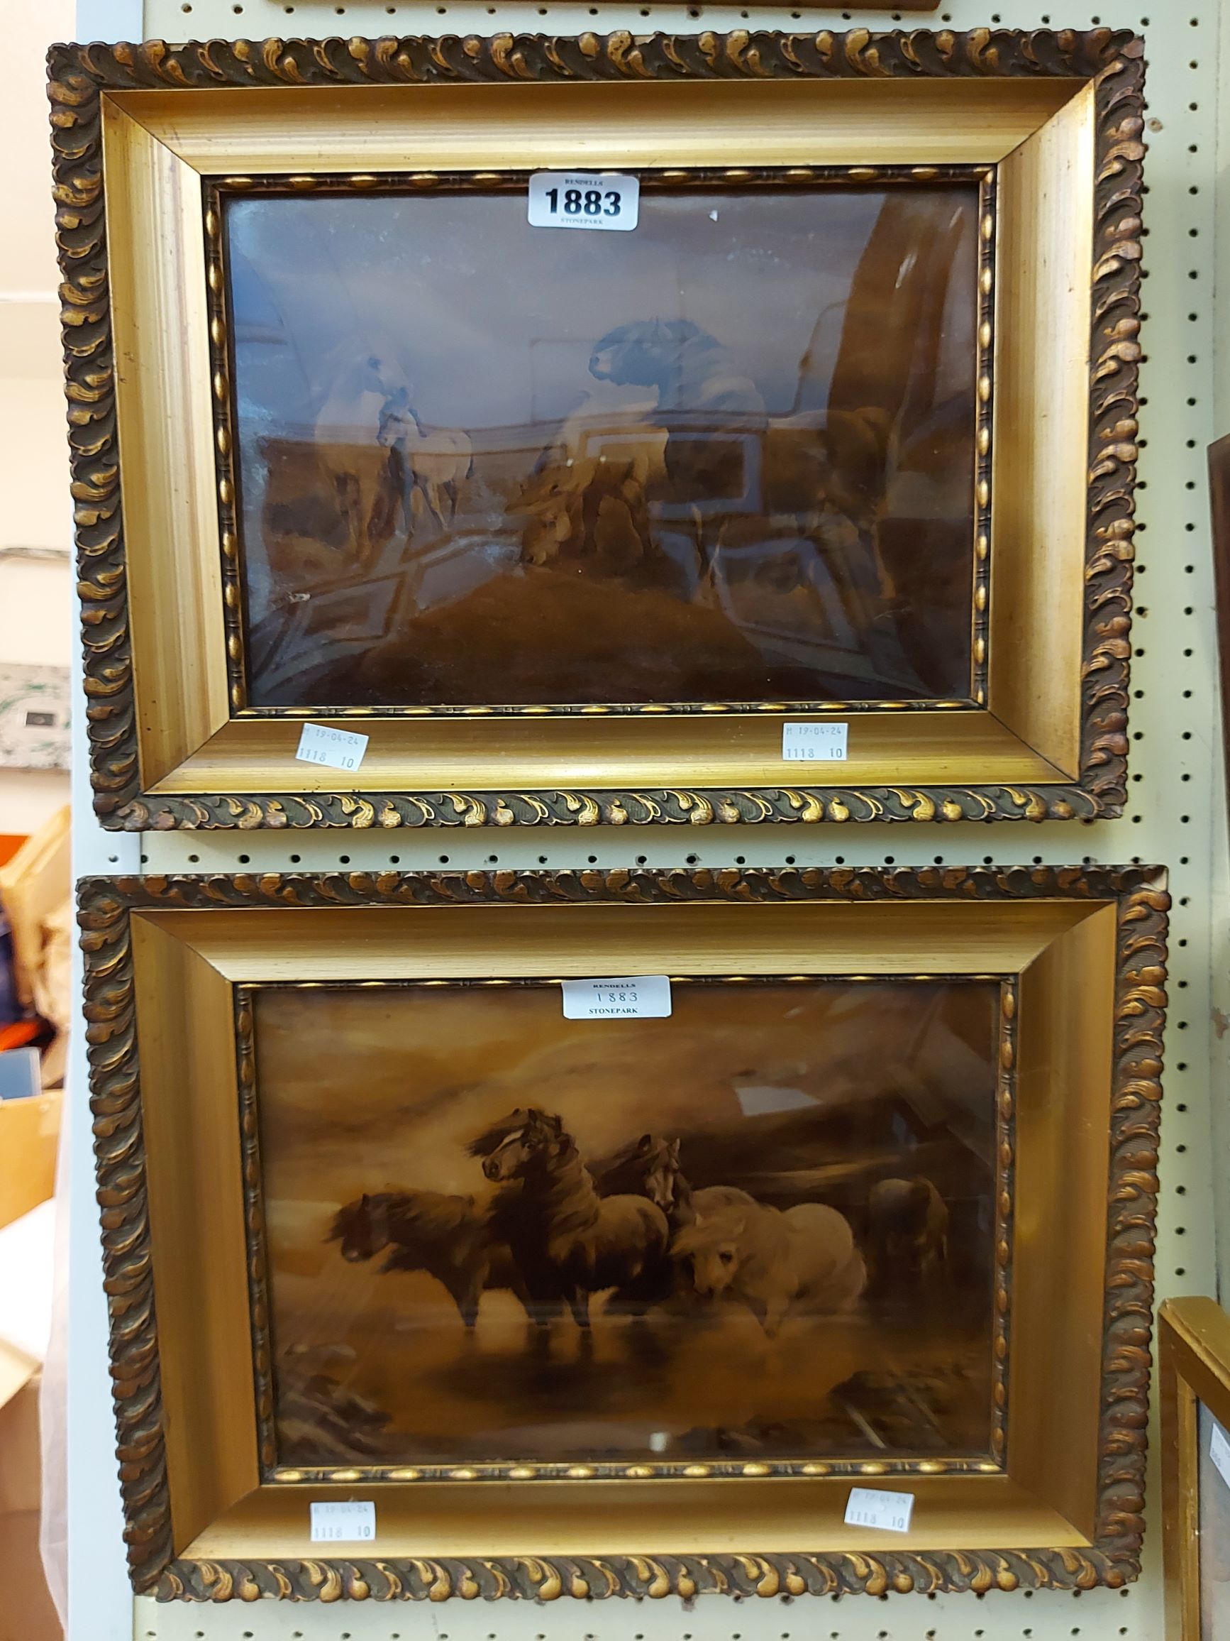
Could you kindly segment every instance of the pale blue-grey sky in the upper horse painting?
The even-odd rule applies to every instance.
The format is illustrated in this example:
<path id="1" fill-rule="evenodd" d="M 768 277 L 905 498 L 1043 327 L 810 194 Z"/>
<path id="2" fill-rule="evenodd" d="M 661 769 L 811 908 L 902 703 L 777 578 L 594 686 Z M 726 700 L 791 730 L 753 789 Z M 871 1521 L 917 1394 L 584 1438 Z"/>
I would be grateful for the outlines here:
<path id="1" fill-rule="evenodd" d="M 395 361 L 425 422 L 559 420 L 595 392 L 597 338 L 646 318 L 713 333 L 771 415 L 823 409 L 845 294 L 884 199 L 646 192 L 631 233 L 531 228 L 522 192 L 236 199 L 226 223 L 241 422 L 313 422 L 372 354 Z M 948 190 L 941 208 L 969 199 Z M 359 414 L 377 415 L 379 400 Z"/>

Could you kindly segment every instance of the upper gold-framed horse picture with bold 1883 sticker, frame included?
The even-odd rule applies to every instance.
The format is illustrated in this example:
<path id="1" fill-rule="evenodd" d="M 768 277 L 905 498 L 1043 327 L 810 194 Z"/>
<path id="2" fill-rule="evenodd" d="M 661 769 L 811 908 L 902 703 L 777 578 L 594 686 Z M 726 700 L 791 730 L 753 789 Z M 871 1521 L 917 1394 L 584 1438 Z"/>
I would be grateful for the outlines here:
<path id="1" fill-rule="evenodd" d="M 56 48 L 103 822 L 1118 814 L 1141 74 Z"/>

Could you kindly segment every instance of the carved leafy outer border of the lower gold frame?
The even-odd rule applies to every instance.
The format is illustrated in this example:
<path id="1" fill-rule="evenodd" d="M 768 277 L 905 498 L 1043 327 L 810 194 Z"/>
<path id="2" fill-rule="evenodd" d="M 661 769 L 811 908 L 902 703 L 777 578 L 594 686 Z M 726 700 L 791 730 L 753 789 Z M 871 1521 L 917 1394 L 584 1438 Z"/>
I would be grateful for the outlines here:
<path id="1" fill-rule="evenodd" d="M 464 904 L 858 903 L 884 899 L 1118 903 L 1105 1301 L 1091 1547 L 413 1561 L 174 1559 L 146 1203 L 130 914 Z M 1140 1574 L 1153 1237 L 1166 1004 L 1161 873 L 1127 868 L 784 868 L 87 878 L 79 891 L 85 1019 L 102 1208 L 120 1475 L 133 1584 L 161 1600 L 528 1600 L 836 1595 L 889 1590 L 1118 1587 Z M 249 1136 L 246 1136 L 249 1139 Z M 246 1145 L 246 1159 L 251 1147 Z"/>

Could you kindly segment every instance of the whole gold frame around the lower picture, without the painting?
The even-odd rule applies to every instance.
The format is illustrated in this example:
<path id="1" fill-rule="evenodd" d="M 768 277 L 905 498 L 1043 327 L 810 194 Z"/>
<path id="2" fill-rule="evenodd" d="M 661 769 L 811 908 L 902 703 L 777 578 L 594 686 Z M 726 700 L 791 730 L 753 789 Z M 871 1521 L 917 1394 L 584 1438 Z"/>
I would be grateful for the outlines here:
<path id="1" fill-rule="evenodd" d="M 1137 1577 L 1166 907 L 1164 878 L 1146 866 L 85 880 L 98 1200 L 136 1588 L 440 1600 L 1081 1588 Z M 764 1477 L 748 1464 L 712 1480 L 380 1482 L 371 1556 L 317 1559 L 308 1498 L 353 1497 L 361 1472 L 261 1485 L 257 1408 L 271 1390 L 254 1367 L 256 1149 L 241 1131 L 236 986 L 595 968 L 730 975 L 731 953 L 743 975 L 1018 975 L 1017 1231 L 997 1255 L 1012 1278 L 1007 1470 L 872 1460 L 854 1477 L 848 1465 Z M 1100 1329 L 1087 1328 L 1091 1313 Z M 910 1487 L 909 1534 L 841 1524 L 858 1479 Z M 730 1544 L 740 1549 L 712 1552 Z"/>

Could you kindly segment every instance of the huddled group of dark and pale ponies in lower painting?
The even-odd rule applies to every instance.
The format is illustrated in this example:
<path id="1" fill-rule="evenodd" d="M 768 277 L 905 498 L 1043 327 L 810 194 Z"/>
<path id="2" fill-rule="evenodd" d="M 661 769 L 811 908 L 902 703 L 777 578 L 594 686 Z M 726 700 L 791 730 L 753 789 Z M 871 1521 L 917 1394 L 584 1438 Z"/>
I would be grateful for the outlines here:
<path id="1" fill-rule="evenodd" d="M 850 1223 L 822 1203 L 766 1208 L 733 1185 L 694 1190 L 679 1140 L 641 1136 L 597 1180 L 559 1116 L 517 1109 L 469 1142 L 495 1190 L 485 1203 L 441 1191 L 364 1193 L 333 1218 L 348 1260 L 389 1249 L 382 1272 L 421 1270 L 474 1328 L 489 1288 L 548 1326 L 564 1306 L 589 1329 L 589 1301 L 643 1316 L 738 1303 L 774 1337 L 792 1311 L 850 1308 L 866 1267 Z"/>

